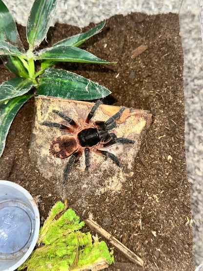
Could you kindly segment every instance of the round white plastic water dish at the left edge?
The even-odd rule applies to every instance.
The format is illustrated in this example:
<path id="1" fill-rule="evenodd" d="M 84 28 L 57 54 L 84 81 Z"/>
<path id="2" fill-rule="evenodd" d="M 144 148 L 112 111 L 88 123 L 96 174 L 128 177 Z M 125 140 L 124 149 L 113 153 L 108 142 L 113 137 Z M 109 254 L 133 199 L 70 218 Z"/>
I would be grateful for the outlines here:
<path id="1" fill-rule="evenodd" d="M 14 271 L 29 257 L 39 230 L 40 214 L 32 196 L 0 180 L 0 271 Z"/>

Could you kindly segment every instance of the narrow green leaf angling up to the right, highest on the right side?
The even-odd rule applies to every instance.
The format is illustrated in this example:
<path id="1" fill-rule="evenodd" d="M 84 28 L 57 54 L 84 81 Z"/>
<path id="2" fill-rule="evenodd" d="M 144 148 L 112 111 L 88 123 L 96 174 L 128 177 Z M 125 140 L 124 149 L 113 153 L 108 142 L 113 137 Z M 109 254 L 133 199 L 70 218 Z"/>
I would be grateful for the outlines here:
<path id="1" fill-rule="evenodd" d="M 74 46 L 78 47 L 80 46 L 83 42 L 88 40 L 90 37 L 94 36 L 95 34 L 99 33 L 102 28 L 104 27 L 106 21 L 102 21 L 100 24 L 97 26 L 93 27 L 89 31 L 82 33 L 82 34 L 77 34 L 75 36 L 69 37 L 65 40 L 62 40 L 60 42 L 55 43 L 52 47 L 55 47 L 57 45 L 66 45 L 66 46 Z"/>

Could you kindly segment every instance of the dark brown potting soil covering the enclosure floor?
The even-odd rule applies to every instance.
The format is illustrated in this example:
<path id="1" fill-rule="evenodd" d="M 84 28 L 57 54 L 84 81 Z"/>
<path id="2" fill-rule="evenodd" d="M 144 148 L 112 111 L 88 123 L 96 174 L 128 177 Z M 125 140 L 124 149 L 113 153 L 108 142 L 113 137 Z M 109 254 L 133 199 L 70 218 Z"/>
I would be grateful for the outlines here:
<path id="1" fill-rule="evenodd" d="M 94 25 L 91 23 L 83 31 Z M 18 28 L 25 37 L 24 27 Z M 102 59 L 118 61 L 117 64 L 57 65 L 110 89 L 112 94 L 104 103 L 145 109 L 153 114 L 152 125 L 135 159 L 134 174 L 120 193 L 91 195 L 88 209 L 77 206 L 77 191 L 71 197 L 67 194 L 70 207 L 81 220 L 91 212 L 98 224 L 144 261 L 142 269 L 115 250 L 115 264 L 109 271 L 193 270 L 192 228 L 187 223 L 191 219 L 191 202 L 185 170 L 183 51 L 179 31 L 177 14 L 114 16 L 106 21 L 101 33 L 81 48 Z M 76 33 L 81 33 L 78 27 L 56 24 L 47 41 L 50 46 Z M 45 45 L 43 42 L 41 47 Z M 136 56 L 134 50 L 140 45 L 147 49 Z M 0 65 L 0 82 L 12 77 Z M 15 117 L 0 158 L 0 179 L 20 184 L 38 199 L 43 223 L 54 203 L 63 199 L 57 194 L 54 179 L 44 179 L 29 158 L 34 114 L 31 99 Z M 84 230 L 95 234 L 88 227 Z"/>

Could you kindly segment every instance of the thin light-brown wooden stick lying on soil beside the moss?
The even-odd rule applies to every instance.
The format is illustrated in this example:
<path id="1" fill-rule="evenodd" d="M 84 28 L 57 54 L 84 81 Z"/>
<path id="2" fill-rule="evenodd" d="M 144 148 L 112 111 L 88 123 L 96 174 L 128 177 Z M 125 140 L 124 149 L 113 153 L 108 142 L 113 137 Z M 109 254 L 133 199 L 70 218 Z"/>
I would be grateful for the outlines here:
<path id="1" fill-rule="evenodd" d="M 120 250 L 130 261 L 138 264 L 139 266 L 143 266 L 143 261 L 140 257 L 138 257 L 133 251 L 126 248 L 119 240 L 113 237 L 105 229 L 102 229 L 102 227 L 98 225 L 94 220 L 88 218 L 84 222 L 90 228 L 94 229 L 95 231 L 99 232 L 103 237 L 105 237 L 115 248 Z"/>

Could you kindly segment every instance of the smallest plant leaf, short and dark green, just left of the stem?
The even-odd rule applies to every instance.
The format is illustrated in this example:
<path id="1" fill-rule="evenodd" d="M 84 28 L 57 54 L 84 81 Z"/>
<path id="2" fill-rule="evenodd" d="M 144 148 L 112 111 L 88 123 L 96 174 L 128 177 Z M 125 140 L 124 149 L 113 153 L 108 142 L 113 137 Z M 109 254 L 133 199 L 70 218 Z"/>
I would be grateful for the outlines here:
<path id="1" fill-rule="evenodd" d="M 8 57 L 6 67 L 17 76 L 29 78 L 27 69 L 18 57 Z"/>

